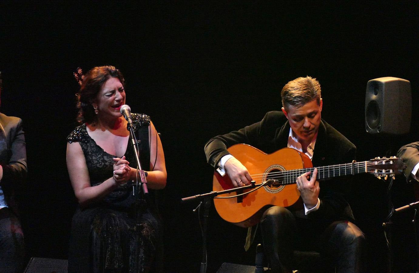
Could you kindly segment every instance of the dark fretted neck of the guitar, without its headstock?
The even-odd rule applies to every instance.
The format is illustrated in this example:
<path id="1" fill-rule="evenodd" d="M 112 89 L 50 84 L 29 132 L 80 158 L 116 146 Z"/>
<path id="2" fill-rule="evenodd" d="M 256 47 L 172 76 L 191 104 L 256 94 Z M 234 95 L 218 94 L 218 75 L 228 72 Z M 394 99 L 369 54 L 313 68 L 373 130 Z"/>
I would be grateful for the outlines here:
<path id="1" fill-rule="evenodd" d="M 312 177 L 314 169 L 315 168 L 313 167 L 313 168 L 305 168 L 305 169 L 297 169 L 297 170 L 286 170 L 286 171 L 280 172 L 279 177 L 276 177 L 275 179 L 278 179 L 282 185 L 295 184 L 297 177 L 299 177 L 300 175 L 304 173 L 311 172 L 310 177 Z M 334 177 L 345 176 L 345 175 L 356 175 L 358 173 L 367 173 L 368 161 L 316 167 L 316 169 L 317 169 L 317 180 L 324 180 L 328 178 L 334 178 Z"/>

